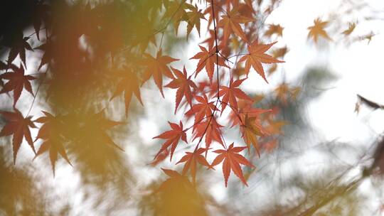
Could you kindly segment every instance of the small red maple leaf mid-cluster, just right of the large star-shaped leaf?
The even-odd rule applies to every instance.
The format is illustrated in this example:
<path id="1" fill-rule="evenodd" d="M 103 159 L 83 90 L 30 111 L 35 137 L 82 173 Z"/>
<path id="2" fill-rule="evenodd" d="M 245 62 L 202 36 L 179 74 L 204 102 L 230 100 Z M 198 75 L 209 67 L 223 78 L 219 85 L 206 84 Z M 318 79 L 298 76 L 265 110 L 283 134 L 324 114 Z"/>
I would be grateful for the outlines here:
<path id="1" fill-rule="evenodd" d="M 186 112 L 186 115 L 195 115 L 195 125 L 203 120 L 204 117 L 210 117 L 213 110 L 216 109 L 214 102 L 208 102 L 208 97 L 203 94 L 203 97 L 196 96 L 197 104 L 193 104 L 190 110 Z"/>

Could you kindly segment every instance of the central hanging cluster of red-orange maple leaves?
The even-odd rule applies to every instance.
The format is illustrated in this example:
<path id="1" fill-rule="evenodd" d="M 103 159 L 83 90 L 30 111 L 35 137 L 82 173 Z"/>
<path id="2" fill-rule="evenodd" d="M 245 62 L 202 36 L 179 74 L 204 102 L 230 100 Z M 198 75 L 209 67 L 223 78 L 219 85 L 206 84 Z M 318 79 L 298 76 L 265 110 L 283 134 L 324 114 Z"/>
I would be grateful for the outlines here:
<path id="1" fill-rule="evenodd" d="M 193 125 L 186 128 L 183 126 L 182 121 L 178 124 L 169 122 L 171 129 L 154 137 L 154 139 L 166 140 L 156 154 L 154 161 L 158 163 L 167 156 L 172 160 L 179 142 L 184 141 L 188 144 L 186 132 L 192 129 L 193 139 L 190 144 L 194 143 L 194 150 L 186 151 L 184 156 L 177 162 L 184 163 L 181 174 L 186 175 L 189 171 L 193 182 L 195 182 L 198 165 L 214 168 L 221 163 L 225 186 L 228 184 L 231 171 L 240 178 L 242 183 L 247 185 L 241 165 L 250 168 L 254 166 L 240 153 L 245 149 L 250 152 L 251 146 L 253 146 L 260 156 L 260 146 L 258 144 L 260 137 L 271 135 L 270 131 L 265 129 L 267 121 L 264 121 L 265 119 L 262 119 L 261 115 L 269 113 L 272 115 L 272 110 L 253 107 L 254 100 L 240 89 L 240 85 L 247 80 L 251 68 L 267 82 L 262 64 L 283 63 L 284 61 L 266 53 L 276 42 L 260 43 L 255 39 L 255 35 L 252 35 L 251 31 L 245 32 L 244 26 L 254 21 L 255 10 L 252 1 L 207 1 L 207 4 L 208 6 L 203 11 L 196 9 L 196 5 L 191 6 L 182 1 L 178 13 L 175 13 L 178 18 L 174 17 L 176 30 L 181 21 L 188 23 L 188 36 L 193 27 L 196 27 L 200 35 L 200 21 L 206 21 L 206 16 L 208 16 L 210 37 L 203 41 L 207 45 L 199 45 L 200 52 L 190 58 L 191 60 L 198 60 L 196 70 L 188 75 L 185 68 L 183 68 L 183 72 L 175 68 L 169 69 L 166 65 L 176 61 L 176 59 L 162 56 L 161 50 L 156 55 L 156 61 L 150 56 L 147 58 L 149 59 L 147 64 L 151 65 L 148 68 L 151 68 L 151 70 L 146 70 L 146 72 L 151 72 L 161 94 L 163 92 L 162 80 L 161 75 L 158 75 L 158 73 L 171 78 L 171 82 L 165 87 L 176 89 L 175 113 L 184 99 L 184 104 L 189 107 L 189 110 L 185 113 L 186 119 L 193 118 Z M 185 9 L 189 11 L 184 11 Z M 183 17 L 188 18 L 184 19 Z M 242 78 L 232 74 L 233 70 L 229 66 L 231 61 L 228 58 L 231 51 L 233 51 L 228 48 L 229 40 L 237 41 L 238 38 L 241 40 L 238 41 L 239 46 L 247 46 L 247 53 L 242 54 L 234 67 L 245 67 Z M 155 62 L 157 71 L 154 70 Z M 240 65 L 242 62 L 245 62 L 245 66 Z M 197 77 L 204 69 L 208 80 L 206 82 L 194 82 L 193 75 Z M 220 72 L 222 75 L 220 75 Z M 229 78 L 229 83 L 225 81 L 225 78 Z M 220 118 L 223 119 L 225 108 L 230 109 L 230 127 L 240 126 L 245 145 L 235 145 L 233 143 L 227 146 L 225 143 L 223 128 L 226 126 L 219 124 Z M 208 153 L 216 154 L 212 163 L 207 161 Z"/>

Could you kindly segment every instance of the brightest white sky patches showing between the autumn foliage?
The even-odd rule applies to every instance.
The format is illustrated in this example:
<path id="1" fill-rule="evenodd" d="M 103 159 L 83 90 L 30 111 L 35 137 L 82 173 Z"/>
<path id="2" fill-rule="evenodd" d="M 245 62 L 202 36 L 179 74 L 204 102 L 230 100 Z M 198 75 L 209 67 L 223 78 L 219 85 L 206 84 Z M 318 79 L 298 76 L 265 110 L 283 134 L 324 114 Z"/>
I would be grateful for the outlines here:
<path id="1" fill-rule="evenodd" d="M 279 42 L 275 46 L 282 47 L 287 45 L 289 48 L 289 53 L 287 53 L 284 58 L 286 63 L 283 63 L 284 73 L 288 82 L 295 80 L 306 68 L 312 65 L 326 65 L 326 68 L 338 76 L 338 81 L 331 83 L 329 90 L 319 99 L 311 102 L 307 108 L 309 119 L 316 131 L 323 134 L 326 140 L 339 139 L 340 141 L 352 141 L 356 142 L 356 144 L 365 144 L 366 141 L 373 139 L 384 130 L 384 112 L 372 112 L 362 107 L 361 114 L 356 115 L 353 110 L 357 100 L 356 94 L 384 104 L 384 38 L 383 35 L 380 34 L 384 32 L 384 21 L 364 22 L 361 23 L 361 26 L 359 26 L 358 23 L 356 26 L 352 36 L 361 36 L 370 31 L 376 34 L 369 44 L 367 44 L 367 41 L 358 41 L 351 45 L 345 45 L 341 43 L 341 41 L 334 43 L 322 41 L 316 46 L 307 41 L 307 27 L 312 26 L 314 19 L 317 17 L 328 20 L 329 12 L 334 12 L 339 2 L 340 0 L 285 0 L 267 19 L 266 23 L 278 23 L 284 27 L 283 38 L 278 38 L 277 41 Z M 383 11 L 384 1 L 375 0 L 369 2 L 375 9 Z M 360 14 L 356 15 L 358 16 Z M 345 23 L 342 23 L 338 32 L 344 31 L 348 27 L 348 21 L 356 21 L 356 18 L 353 16 L 348 17 L 350 17 L 350 19 L 346 19 Z M 331 19 L 329 21 L 332 22 Z M 206 23 L 202 21 L 202 30 L 204 26 L 206 26 Z M 332 23 L 329 26 L 332 26 Z M 180 29 L 181 28 L 185 28 L 185 26 L 181 25 Z M 195 29 L 193 29 L 192 32 L 197 36 Z M 201 36 L 204 35 L 202 31 Z M 333 35 L 334 34 L 330 34 L 330 36 Z M 188 58 L 191 58 L 198 52 L 199 49 L 196 45 L 198 42 L 200 42 L 200 39 L 198 39 L 198 41 L 191 40 L 190 46 L 185 49 L 183 48 L 180 56 L 171 56 L 181 58 L 183 63 L 186 63 Z M 176 68 L 181 69 L 181 67 L 182 65 L 177 65 Z M 194 65 L 187 65 L 188 72 L 192 72 L 195 69 L 194 67 Z M 205 72 L 201 73 L 203 74 Z M 281 73 L 277 71 L 276 75 L 267 77 L 267 79 L 270 80 L 270 85 L 267 85 L 262 78 L 252 70 L 250 72 L 250 79 L 243 82 L 241 87 L 247 92 L 270 90 L 281 82 Z M 169 80 L 164 80 L 164 85 L 168 82 Z M 139 128 L 137 136 L 142 139 L 143 143 L 148 145 L 159 143 L 158 141 L 152 140 L 152 137 L 157 136 L 165 128 L 168 128 L 166 121 L 178 122 L 178 120 L 181 119 L 180 112 L 176 117 L 173 115 L 175 92 L 165 88 L 164 93 L 166 99 L 161 97 L 157 89 L 151 90 L 144 88 L 144 90 L 142 90 L 145 117 L 137 123 Z M 23 91 L 23 95 L 25 95 L 25 91 Z M 23 97 L 23 102 L 30 104 L 28 99 L 24 100 L 24 98 L 27 97 Z M 33 110 L 38 111 L 39 109 L 35 108 Z M 159 110 L 165 110 L 166 112 L 159 114 Z M 36 116 L 40 115 L 40 113 L 34 112 L 31 114 L 36 114 Z M 191 137 L 188 136 L 188 139 L 190 138 Z M 26 146 L 26 144 L 21 146 L 20 153 L 25 151 L 26 153 L 23 154 L 27 156 L 26 160 L 28 160 L 33 156 L 29 153 L 30 149 L 24 148 Z M 132 163 L 138 163 L 138 161 L 142 160 L 142 158 L 139 158 L 142 156 L 139 156 L 139 153 L 137 153 L 140 152 L 139 146 L 127 145 L 125 150 L 128 154 L 127 157 L 129 157 Z M 150 153 L 146 152 L 146 158 L 151 157 L 149 154 Z M 18 160 L 20 158 L 19 156 Z M 164 163 L 163 167 L 176 168 L 174 163 L 176 163 L 178 159 L 179 158 L 174 158 L 172 163 Z M 38 166 L 38 160 L 33 163 L 36 163 L 36 166 Z M 215 195 L 215 198 L 219 201 L 223 200 L 227 189 L 224 187 L 222 173 L 220 169 L 217 169 L 217 171 L 210 172 L 210 174 L 214 178 L 214 181 L 217 182 L 212 188 L 213 195 Z M 44 175 L 50 176 L 50 171 L 47 171 Z M 151 180 L 158 178 L 159 167 L 138 169 L 137 175 L 142 176 L 143 184 L 145 182 L 149 183 Z M 70 176 L 71 184 L 68 184 L 68 176 Z M 230 181 L 231 180 L 238 181 L 233 173 L 230 175 Z M 73 168 L 70 166 L 58 166 L 56 177 L 51 181 L 51 184 L 55 188 L 63 188 L 63 193 L 56 191 L 63 196 L 73 194 L 71 203 L 78 206 L 74 209 L 85 209 L 84 203 L 82 203 L 82 193 L 75 193 L 78 192 L 76 185 L 80 184 L 80 180 L 78 179 L 78 175 L 75 174 L 75 171 L 73 171 Z M 82 214 L 82 212 L 72 213 L 73 215 Z"/>

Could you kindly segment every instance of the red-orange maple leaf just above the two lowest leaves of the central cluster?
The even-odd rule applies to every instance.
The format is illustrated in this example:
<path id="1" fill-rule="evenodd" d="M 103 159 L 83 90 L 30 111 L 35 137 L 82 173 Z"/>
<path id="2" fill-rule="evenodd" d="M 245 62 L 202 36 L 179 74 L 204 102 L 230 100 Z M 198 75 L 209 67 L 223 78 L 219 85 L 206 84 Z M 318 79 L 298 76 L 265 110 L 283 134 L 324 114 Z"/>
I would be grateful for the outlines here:
<path id="1" fill-rule="evenodd" d="M 223 145 L 223 140 L 221 139 L 221 131 L 220 128 L 223 127 L 214 117 L 211 117 L 209 119 L 206 119 L 206 121 L 202 121 L 198 124 L 196 124 L 196 127 L 193 129 L 195 130 L 195 136 L 193 140 L 200 137 L 201 139 L 203 136 L 206 136 L 206 154 L 208 153 L 208 149 L 212 141 L 217 141 L 219 144 Z"/>

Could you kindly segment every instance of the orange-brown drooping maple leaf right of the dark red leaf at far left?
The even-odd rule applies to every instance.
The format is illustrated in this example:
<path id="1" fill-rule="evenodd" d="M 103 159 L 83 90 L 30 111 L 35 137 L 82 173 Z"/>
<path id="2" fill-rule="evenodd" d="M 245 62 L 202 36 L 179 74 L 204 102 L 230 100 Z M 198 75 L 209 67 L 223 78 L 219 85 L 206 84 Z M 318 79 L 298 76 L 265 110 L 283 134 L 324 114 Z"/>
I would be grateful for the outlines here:
<path id="1" fill-rule="evenodd" d="M 58 161 L 58 153 L 70 164 L 70 166 L 72 166 L 67 153 L 65 152 L 60 133 L 60 128 L 63 128 L 64 124 L 52 114 L 44 111 L 42 112 L 45 116 L 34 121 L 43 124 L 38 131 L 38 136 L 36 136 L 35 139 L 35 141 L 43 139 L 43 144 L 41 144 L 40 148 L 38 148 L 35 158 L 48 151 L 50 165 L 52 166 L 53 175 L 55 175 L 55 163 Z"/>

